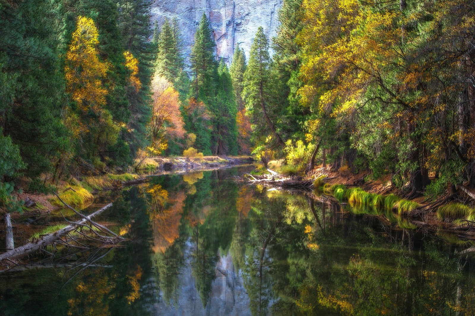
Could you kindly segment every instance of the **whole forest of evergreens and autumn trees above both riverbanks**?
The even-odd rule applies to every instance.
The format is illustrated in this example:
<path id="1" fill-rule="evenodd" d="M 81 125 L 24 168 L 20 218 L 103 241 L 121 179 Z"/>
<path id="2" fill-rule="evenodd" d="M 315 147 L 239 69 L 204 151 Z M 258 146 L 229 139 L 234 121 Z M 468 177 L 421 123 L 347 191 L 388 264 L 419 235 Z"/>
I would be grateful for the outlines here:
<path id="1" fill-rule="evenodd" d="M 348 167 L 409 196 L 475 187 L 473 1 L 284 0 L 277 35 L 259 27 L 230 62 L 206 14 L 183 43 L 151 7 L 0 3 L 2 210 L 15 190 L 184 152 Z"/>

